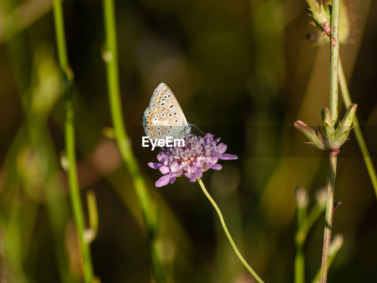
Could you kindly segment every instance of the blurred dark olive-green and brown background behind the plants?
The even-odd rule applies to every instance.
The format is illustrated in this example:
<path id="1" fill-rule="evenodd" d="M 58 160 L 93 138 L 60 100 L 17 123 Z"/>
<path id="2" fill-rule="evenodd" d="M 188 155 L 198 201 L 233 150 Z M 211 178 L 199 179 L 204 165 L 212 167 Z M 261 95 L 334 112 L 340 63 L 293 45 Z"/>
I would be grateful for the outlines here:
<path id="1" fill-rule="evenodd" d="M 352 6 L 355 5 L 356 6 Z M 170 282 L 255 282 L 231 248 L 198 183 L 155 188 L 141 148 L 142 116 L 156 86 L 172 89 L 188 121 L 238 160 L 222 160 L 203 182 L 250 266 L 265 282 L 293 281 L 295 188 L 325 186 L 324 152 L 293 127 L 321 123 L 329 106 L 329 47 L 314 43 L 304 0 L 116 1 L 124 122 L 159 212 L 159 245 Z M 132 180 L 114 140 L 106 86 L 101 1 L 65 0 L 74 73 L 78 177 L 84 211 L 97 196 L 91 245 L 102 282 L 151 282 L 151 259 Z M 340 56 L 366 143 L 377 164 L 377 2 L 342 2 Z M 309 40 L 308 40 L 309 38 Z M 345 107 L 339 99 L 339 117 Z M 194 134 L 199 135 L 198 131 Z M 79 282 L 80 253 L 70 209 L 64 99 L 50 0 L 0 0 L 0 271 L 2 282 Z M 377 203 L 356 139 L 338 155 L 333 235 L 344 243 L 329 282 L 377 282 Z M 305 246 L 307 282 L 320 266 L 323 215 Z M 60 243 L 60 244 L 59 244 Z M 61 274 L 66 274 L 62 278 Z M 64 276 L 63 276 L 64 277 Z"/>

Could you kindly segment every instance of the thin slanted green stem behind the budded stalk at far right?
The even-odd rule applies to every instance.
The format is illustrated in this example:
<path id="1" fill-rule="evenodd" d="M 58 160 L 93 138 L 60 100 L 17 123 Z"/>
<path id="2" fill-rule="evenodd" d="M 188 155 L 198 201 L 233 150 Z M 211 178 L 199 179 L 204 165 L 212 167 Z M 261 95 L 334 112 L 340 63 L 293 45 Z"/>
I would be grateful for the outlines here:
<path id="1" fill-rule="evenodd" d="M 340 57 L 339 57 L 338 77 L 339 77 L 339 85 L 340 85 L 340 90 L 342 92 L 343 102 L 344 102 L 345 107 L 347 108 L 348 105 L 352 103 L 352 101 L 349 95 L 348 86 L 346 82 L 346 76 L 344 75 L 342 61 L 340 60 Z M 361 132 L 359 120 L 357 119 L 356 114 L 353 118 L 352 125 L 355 127 L 354 128 L 355 137 L 356 137 L 357 143 L 359 144 L 360 151 L 363 154 L 365 166 L 366 166 L 366 169 L 368 170 L 369 178 L 372 181 L 374 193 L 377 198 L 377 174 L 372 163 L 372 158 L 366 146 L 365 139 Z"/>

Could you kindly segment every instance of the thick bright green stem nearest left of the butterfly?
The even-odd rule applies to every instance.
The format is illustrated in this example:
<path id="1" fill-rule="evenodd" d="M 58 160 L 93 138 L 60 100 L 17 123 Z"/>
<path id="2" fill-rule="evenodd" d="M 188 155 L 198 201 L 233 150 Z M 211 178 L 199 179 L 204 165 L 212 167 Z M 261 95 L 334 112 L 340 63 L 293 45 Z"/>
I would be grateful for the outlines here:
<path id="1" fill-rule="evenodd" d="M 124 163 L 126 164 L 136 195 L 143 212 L 146 223 L 147 234 L 150 239 L 151 257 L 153 265 L 153 274 L 158 283 L 166 282 L 164 268 L 156 249 L 155 241 L 157 239 L 156 216 L 152 206 L 152 201 L 147 191 L 146 184 L 141 175 L 138 163 L 132 157 L 132 147 L 130 139 L 127 135 L 126 128 L 123 123 L 123 111 L 120 98 L 119 72 L 118 72 L 118 50 L 116 41 L 116 25 L 115 25 L 115 8 L 113 0 L 103 0 L 104 7 L 104 25 L 106 32 L 106 51 L 103 54 L 106 62 L 107 89 L 109 92 L 109 103 L 112 122 L 114 126 L 115 138 L 120 148 L 120 152 Z"/>

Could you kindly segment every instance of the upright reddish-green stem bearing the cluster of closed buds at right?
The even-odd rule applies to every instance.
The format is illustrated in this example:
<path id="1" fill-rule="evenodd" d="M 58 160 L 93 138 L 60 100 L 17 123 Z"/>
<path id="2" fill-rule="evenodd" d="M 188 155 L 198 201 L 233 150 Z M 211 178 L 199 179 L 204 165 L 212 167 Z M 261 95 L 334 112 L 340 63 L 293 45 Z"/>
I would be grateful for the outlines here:
<path id="1" fill-rule="evenodd" d="M 339 63 L 339 0 L 333 0 L 331 13 L 331 38 L 330 38 L 330 113 L 333 123 L 338 118 L 338 63 Z M 334 214 L 334 189 L 336 175 L 337 155 L 329 153 L 327 168 L 327 203 L 325 212 L 325 225 L 323 229 L 321 283 L 327 281 L 329 248 L 331 242 L 331 226 Z"/>

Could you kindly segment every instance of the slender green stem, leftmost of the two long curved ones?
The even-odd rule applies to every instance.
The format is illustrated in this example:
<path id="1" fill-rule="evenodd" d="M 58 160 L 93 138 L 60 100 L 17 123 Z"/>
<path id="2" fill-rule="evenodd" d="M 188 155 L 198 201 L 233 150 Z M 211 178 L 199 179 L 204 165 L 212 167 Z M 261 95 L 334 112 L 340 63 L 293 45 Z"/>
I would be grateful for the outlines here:
<path id="1" fill-rule="evenodd" d="M 72 91 L 70 86 L 68 56 L 64 34 L 63 11 L 60 0 L 54 0 L 54 22 L 56 32 L 56 43 L 58 49 L 58 58 L 61 71 L 63 73 L 64 98 L 66 106 L 66 117 L 64 122 L 64 134 L 66 154 L 69 162 L 68 180 L 70 189 L 70 199 L 74 215 L 74 221 L 80 240 L 81 255 L 83 257 L 84 279 L 86 283 L 93 280 L 93 267 L 90 258 L 90 248 L 84 241 L 84 212 L 81 205 L 80 191 L 76 171 L 76 153 L 75 153 L 75 128 L 74 128 L 74 111 L 72 105 Z"/>

